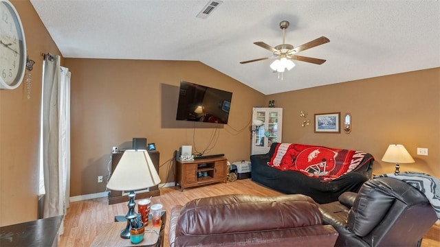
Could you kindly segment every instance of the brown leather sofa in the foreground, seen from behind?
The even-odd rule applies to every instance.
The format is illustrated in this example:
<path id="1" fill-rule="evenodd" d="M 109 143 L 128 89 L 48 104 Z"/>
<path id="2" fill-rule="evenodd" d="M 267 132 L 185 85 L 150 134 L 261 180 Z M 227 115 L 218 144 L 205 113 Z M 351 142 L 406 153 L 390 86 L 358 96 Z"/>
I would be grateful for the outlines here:
<path id="1" fill-rule="evenodd" d="M 322 225 L 308 196 L 226 195 L 175 206 L 170 246 L 333 246 L 338 233 Z"/>

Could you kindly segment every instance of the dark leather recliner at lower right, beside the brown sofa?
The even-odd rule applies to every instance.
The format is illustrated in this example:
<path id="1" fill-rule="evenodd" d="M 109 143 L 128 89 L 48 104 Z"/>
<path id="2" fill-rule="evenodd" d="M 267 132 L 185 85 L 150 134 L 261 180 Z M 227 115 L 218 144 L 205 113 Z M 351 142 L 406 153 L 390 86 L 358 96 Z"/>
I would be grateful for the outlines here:
<path id="1" fill-rule="evenodd" d="M 420 246 L 437 221 L 423 193 L 395 178 L 372 178 L 320 211 L 339 233 L 335 246 Z"/>

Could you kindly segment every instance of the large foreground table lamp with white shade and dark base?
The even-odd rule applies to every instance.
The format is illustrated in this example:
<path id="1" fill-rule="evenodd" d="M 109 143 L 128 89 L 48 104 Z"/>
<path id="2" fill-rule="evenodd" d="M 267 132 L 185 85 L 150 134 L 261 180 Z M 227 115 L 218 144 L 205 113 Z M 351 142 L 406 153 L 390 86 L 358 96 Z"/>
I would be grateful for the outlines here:
<path id="1" fill-rule="evenodd" d="M 159 175 L 146 150 L 126 150 L 111 174 L 107 188 L 115 191 L 129 192 L 129 212 L 126 213 L 126 228 L 122 229 L 121 237 L 130 238 L 130 222 L 136 217 L 135 190 L 146 189 L 160 183 Z"/>

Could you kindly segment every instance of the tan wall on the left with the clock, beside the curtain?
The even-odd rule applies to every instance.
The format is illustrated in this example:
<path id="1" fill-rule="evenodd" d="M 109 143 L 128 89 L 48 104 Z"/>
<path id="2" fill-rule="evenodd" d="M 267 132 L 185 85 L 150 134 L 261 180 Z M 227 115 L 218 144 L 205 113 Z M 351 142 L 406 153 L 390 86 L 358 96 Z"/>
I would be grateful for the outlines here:
<path id="1" fill-rule="evenodd" d="M 29 1 L 12 1 L 21 16 L 28 56 L 34 60 L 31 98 L 23 84 L 0 90 L 0 225 L 35 220 L 39 183 L 41 53 L 60 54 Z"/>

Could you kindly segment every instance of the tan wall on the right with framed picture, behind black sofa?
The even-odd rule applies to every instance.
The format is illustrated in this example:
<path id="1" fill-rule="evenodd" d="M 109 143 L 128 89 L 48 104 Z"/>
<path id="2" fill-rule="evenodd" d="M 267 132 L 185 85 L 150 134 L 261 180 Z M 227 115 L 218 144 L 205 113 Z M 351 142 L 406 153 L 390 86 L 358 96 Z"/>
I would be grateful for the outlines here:
<path id="1" fill-rule="evenodd" d="M 292 73 L 292 72 L 289 72 Z M 382 162 L 388 145 L 403 144 L 415 163 L 401 172 L 426 172 L 440 177 L 440 69 L 427 69 L 268 95 L 284 108 L 283 142 L 364 150 L 375 157 L 373 173 L 394 172 Z M 310 126 L 301 127 L 304 110 Z M 314 114 L 351 113 L 351 134 L 314 133 Z M 289 128 L 288 128 L 289 127 Z M 428 156 L 417 155 L 428 148 Z"/>

